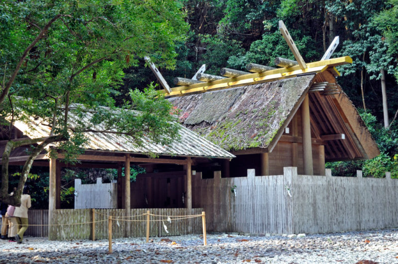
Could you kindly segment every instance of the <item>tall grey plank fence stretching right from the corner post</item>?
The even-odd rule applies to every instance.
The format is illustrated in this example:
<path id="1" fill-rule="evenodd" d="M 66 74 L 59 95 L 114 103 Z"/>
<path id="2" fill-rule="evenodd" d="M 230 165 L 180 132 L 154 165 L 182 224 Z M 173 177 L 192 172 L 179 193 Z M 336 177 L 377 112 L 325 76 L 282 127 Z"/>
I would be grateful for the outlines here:
<path id="1" fill-rule="evenodd" d="M 321 233 L 398 226 L 398 183 L 386 178 L 293 174 L 294 231 Z"/>

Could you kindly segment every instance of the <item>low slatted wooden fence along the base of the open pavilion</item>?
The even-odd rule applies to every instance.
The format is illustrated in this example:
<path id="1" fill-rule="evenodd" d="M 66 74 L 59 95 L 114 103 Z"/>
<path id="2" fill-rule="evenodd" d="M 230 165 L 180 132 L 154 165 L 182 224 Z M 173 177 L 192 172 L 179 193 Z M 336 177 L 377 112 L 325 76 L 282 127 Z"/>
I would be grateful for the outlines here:
<path id="1" fill-rule="evenodd" d="M 129 237 L 145 237 L 146 236 L 146 215 L 150 211 L 151 214 L 164 215 L 164 217 L 151 216 L 150 236 L 179 236 L 186 234 L 201 234 L 202 223 L 201 216 L 192 219 L 173 220 L 169 223 L 168 216 L 181 215 L 200 215 L 202 208 L 152 208 L 152 209 L 131 209 L 129 220 L 140 221 L 123 221 L 125 217 L 125 209 L 96 209 L 96 239 L 108 238 L 108 216 L 115 218 L 112 221 L 112 238 L 122 238 L 126 225 L 131 225 L 131 234 Z M 48 224 L 48 210 L 29 210 L 29 224 Z M 92 209 L 57 209 L 54 217 L 56 240 L 75 240 L 75 239 L 91 239 L 92 234 Z M 70 225 L 86 223 L 81 225 Z M 169 233 L 166 233 L 163 223 L 167 226 Z M 191 228 L 190 228 L 191 225 Z M 26 235 L 34 237 L 48 236 L 48 227 L 29 226 Z"/>

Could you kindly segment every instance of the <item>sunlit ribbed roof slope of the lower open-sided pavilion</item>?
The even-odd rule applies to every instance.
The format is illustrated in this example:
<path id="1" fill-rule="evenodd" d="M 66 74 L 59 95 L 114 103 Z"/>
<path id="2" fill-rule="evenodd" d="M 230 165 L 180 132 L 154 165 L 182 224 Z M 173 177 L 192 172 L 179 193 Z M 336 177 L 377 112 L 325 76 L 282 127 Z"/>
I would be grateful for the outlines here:
<path id="1" fill-rule="evenodd" d="M 87 121 L 92 118 L 93 112 L 88 111 L 84 116 Z M 70 120 L 78 118 L 73 112 L 70 112 Z M 31 138 L 46 137 L 50 134 L 50 127 L 39 120 L 33 118 L 30 122 L 15 122 L 15 127 Z M 73 124 L 72 124 L 73 125 Z M 169 146 L 155 144 L 149 138 L 142 138 L 143 146 L 139 147 L 133 143 L 131 138 L 126 135 L 117 135 L 109 133 L 92 133 L 85 135 L 88 137 L 88 143 L 83 146 L 86 150 L 100 150 L 111 152 L 126 152 L 136 154 L 154 153 L 167 156 L 192 156 L 192 157 L 212 157 L 212 158 L 234 158 L 229 152 L 214 145 L 210 141 L 200 137 L 197 133 L 181 126 L 179 130 L 181 140 L 175 141 Z"/>

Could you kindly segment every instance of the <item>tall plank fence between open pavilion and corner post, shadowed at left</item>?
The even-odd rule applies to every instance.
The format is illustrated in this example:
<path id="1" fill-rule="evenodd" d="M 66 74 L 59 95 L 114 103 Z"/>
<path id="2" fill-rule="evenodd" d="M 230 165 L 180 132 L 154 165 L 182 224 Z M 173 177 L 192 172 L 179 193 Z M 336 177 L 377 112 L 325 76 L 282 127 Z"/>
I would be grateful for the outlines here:
<path id="1" fill-rule="evenodd" d="M 193 206 L 206 212 L 208 231 L 285 233 L 292 230 L 292 200 L 285 184 L 291 176 L 254 176 L 212 179 L 193 176 Z M 231 188 L 236 185 L 236 196 Z"/>

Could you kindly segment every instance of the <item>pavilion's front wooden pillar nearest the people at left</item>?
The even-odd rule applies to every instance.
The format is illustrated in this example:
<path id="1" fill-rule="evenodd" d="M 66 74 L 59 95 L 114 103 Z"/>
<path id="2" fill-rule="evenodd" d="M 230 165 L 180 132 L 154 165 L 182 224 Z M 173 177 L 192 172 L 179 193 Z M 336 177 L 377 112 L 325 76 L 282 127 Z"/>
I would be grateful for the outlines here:
<path id="1" fill-rule="evenodd" d="M 54 158 L 50 158 L 50 176 L 49 176 L 49 188 L 48 188 L 48 240 L 55 240 L 56 233 L 53 224 L 54 214 L 56 209 L 56 174 L 57 174 L 57 161 Z"/>

